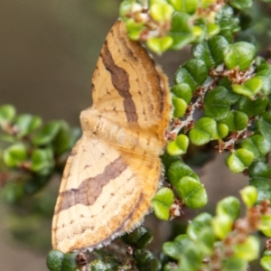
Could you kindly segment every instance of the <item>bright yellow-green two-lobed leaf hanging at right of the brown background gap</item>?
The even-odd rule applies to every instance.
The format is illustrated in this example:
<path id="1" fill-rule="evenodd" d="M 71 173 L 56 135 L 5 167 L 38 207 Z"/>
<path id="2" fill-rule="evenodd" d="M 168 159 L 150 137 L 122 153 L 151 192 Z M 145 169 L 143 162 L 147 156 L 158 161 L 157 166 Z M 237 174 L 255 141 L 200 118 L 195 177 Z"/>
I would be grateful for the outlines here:
<path id="1" fill-rule="evenodd" d="M 233 173 L 242 173 L 252 163 L 253 159 L 253 153 L 241 148 L 235 153 L 229 154 L 227 164 Z"/>

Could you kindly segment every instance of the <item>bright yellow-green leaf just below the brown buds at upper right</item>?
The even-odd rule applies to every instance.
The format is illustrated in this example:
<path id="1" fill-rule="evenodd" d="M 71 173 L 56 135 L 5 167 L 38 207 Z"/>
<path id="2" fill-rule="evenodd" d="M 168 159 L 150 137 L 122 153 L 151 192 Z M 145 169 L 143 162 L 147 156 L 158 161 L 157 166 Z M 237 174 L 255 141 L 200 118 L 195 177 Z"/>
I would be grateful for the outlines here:
<path id="1" fill-rule="evenodd" d="M 248 79 L 242 85 L 232 85 L 234 92 L 244 95 L 248 98 L 255 99 L 257 93 L 262 89 L 262 80 L 255 76 L 252 79 Z"/>

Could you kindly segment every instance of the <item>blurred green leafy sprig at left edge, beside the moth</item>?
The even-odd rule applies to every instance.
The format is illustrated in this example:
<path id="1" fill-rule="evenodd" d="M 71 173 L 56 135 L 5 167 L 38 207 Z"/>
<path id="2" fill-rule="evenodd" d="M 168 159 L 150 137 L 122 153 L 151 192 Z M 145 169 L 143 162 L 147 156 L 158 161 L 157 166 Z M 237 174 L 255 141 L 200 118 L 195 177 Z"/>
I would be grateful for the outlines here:
<path id="1" fill-rule="evenodd" d="M 11 105 L 0 107 L 0 121 L 0 138 L 6 145 L 0 157 L 6 182 L 1 194 L 5 201 L 17 202 L 49 182 L 61 155 L 70 151 L 78 135 L 62 120 L 42 125 L 41 117 L 17 116 Z"/>

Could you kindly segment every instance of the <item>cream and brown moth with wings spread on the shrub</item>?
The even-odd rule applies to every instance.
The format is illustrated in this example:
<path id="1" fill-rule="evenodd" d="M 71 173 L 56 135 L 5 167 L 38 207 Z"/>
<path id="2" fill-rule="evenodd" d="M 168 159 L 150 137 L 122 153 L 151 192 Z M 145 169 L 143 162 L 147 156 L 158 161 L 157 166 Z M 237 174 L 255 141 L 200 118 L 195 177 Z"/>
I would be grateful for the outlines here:
<path id="1" fill-rule="evenodd" d="M 92 78 L 93 105 L 63 173 L 52 247 L 100 248 L 135 229 L 159 186 L 170 94 L 163 71 L 117 21 Z"/>

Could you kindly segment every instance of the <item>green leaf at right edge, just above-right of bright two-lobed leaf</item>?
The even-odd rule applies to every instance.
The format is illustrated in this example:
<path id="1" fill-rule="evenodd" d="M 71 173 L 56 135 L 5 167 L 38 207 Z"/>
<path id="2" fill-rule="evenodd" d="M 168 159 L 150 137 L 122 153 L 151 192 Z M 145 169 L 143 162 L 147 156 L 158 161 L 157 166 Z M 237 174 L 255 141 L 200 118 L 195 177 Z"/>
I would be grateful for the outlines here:
<path id="1" fill-rule="evenodd" d="M 265 156 L 271 150 L 271 143 L 263 135 L 252 135 L 242 140 L 241 146 L 253 153 L 255 159 Z"/>

